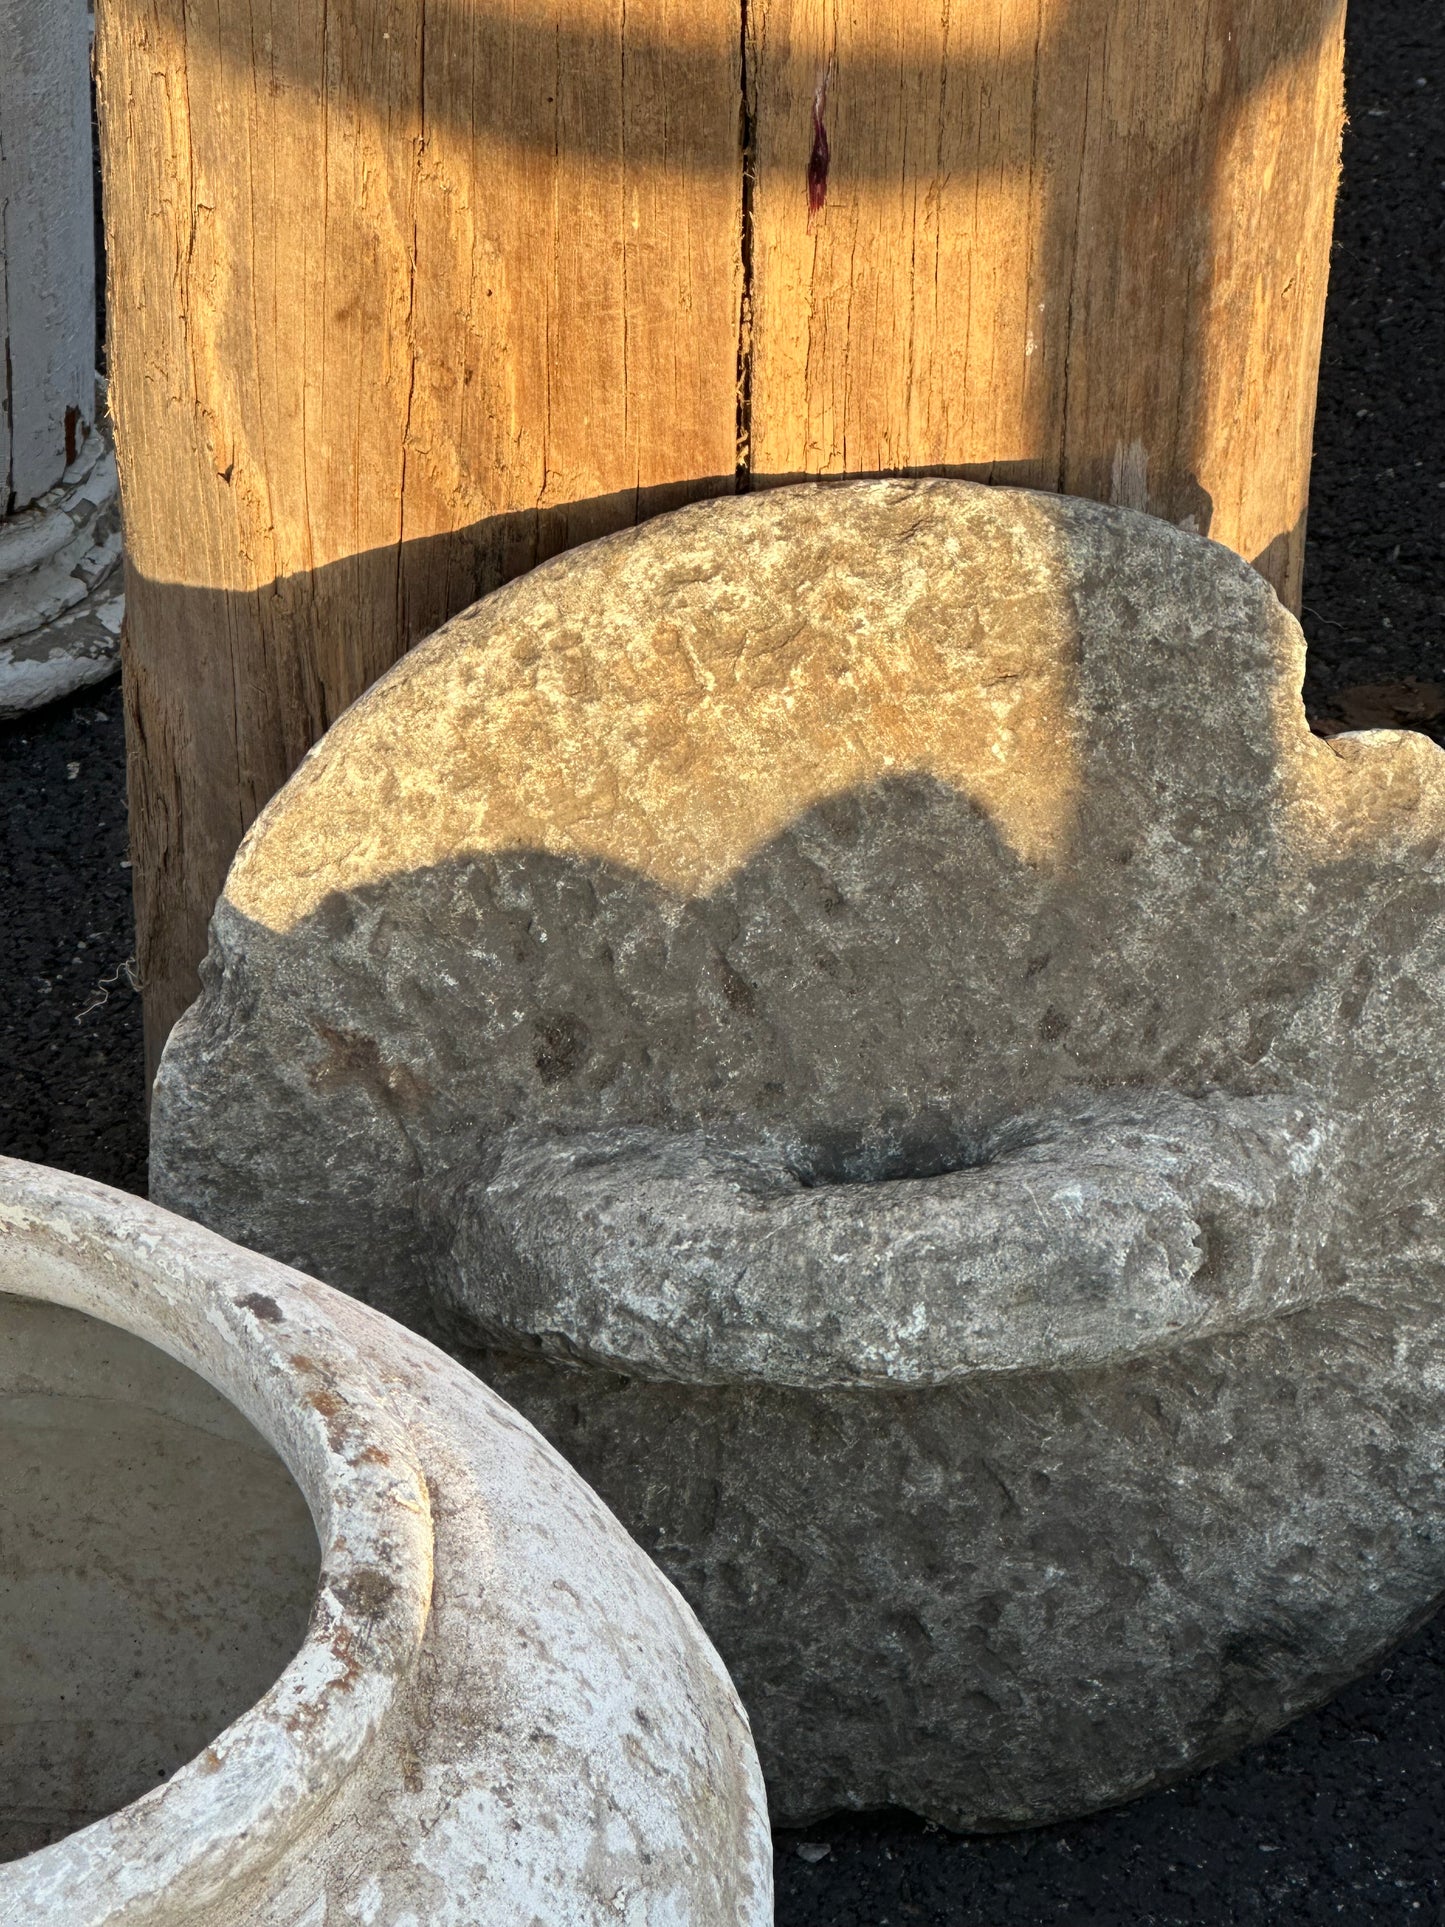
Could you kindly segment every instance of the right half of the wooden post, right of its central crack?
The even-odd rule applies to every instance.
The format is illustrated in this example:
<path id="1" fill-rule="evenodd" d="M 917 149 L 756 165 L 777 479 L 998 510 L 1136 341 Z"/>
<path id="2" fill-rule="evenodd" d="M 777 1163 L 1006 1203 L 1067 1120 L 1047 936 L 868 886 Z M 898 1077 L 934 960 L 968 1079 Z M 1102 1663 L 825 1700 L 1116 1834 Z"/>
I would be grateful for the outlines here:
<path id="1" fill-rule="evenodd" d="M 748 19 L 757 474 L 1117 501 L 1229 543 L 1297 605 L 1341 0 L 751 0 Z"/>

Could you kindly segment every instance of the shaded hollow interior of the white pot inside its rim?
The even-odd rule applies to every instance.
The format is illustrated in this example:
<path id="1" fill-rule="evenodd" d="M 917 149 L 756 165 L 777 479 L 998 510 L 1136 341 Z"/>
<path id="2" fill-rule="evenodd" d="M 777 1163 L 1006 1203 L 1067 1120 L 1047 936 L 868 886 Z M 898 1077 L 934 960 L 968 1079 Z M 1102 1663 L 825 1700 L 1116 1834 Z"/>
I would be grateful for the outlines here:
<path id="1" fill-rule="evenodd" d="M 260 1434 L 116 1326 L 0 1293 L 0 1858 L 114 1813 L 285 1671 L 318 1545 Z"/>

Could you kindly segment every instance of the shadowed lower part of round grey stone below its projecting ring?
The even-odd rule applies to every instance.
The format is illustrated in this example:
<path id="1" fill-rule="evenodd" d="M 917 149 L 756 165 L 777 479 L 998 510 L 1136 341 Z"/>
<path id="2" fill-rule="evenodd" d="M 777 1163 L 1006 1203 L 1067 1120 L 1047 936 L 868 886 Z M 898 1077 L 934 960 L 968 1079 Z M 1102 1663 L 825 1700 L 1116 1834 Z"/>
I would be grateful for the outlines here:
<path id="1" fill-rule="evenodd" d="M 778 1825 L 1127 1800 L 1320 1703 L 1445 1590 L 1435 1305 L 915 1391 L 470 1362 L 707 1624 Z"/>

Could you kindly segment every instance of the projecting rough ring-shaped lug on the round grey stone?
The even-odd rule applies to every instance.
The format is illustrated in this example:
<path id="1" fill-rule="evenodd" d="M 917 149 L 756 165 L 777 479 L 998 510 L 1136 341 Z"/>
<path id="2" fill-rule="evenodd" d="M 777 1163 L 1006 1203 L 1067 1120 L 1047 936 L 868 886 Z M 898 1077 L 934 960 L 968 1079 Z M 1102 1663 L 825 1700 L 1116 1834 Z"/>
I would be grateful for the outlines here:
<path id="1" fill-rule="evenodd" d="M 497 1343 L 688 1384 L 1123 1362 L 1310 1301 L 1322 1148 L 1289 1098 L 1160 1091 L 873 1183 L 805 1147 L 518 1131 L 459 1214 L 457 1299 Z"/>

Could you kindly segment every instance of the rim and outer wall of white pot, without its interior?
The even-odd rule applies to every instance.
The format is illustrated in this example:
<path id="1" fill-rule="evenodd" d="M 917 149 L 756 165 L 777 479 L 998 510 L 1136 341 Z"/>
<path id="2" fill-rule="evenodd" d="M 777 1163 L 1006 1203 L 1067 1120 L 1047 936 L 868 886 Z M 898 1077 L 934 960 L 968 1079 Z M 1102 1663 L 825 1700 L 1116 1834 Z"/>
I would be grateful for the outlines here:
<path id="1" fill-rule="evenodd" d="M 771 1919 L 761 1781 L 721 1663 L 599 1501 L 470 1374 L 285 1266 L 13 1160 L 0 1160 L 0 1293 L 118 1326 L 204 1378 L 274 1445 L 322 1549 L 310 1628 L 276 1684 L 162 1786 L 0 1867 L 0 1917 L 279 1927 L 381 1869 L 395 1912 L 378 1917 L 403 1917 L 403 1900 L 430 1917 L 443 1877 L 480 1908 L 468 1917 L 503 1917 L 509 1896 L 545 1890 L 551 1904 L 528 1917 L 572 1919 L 590 1898 L 578 1871 L 590 1846 L 566 1835 L 591 1823 L 553 1806 L 566 1800 L 553 1782 L 570 1740 L 632 1833 L 609 1892 L 632 1892 L 636 1919 L 701 1923 L 722 1904 Z M 512 1569 L 495 1571 L 507 1555 Z M 603 1605 L 590 1621 L 578 1571 L 595 1574 L 632 1651 L 605 1630 Z M 634 1671 L 645 1788 L 622 1765 L 638 1742 L 630 1709 L 597 1703 Z M 445 1709 L 430 1703 L 437 1688 Z M 505 1738 L 516 1703 L 538 1694 L 553 1702 L 551 1754 Z M 399 1750 L 407 1775 L 393 1786 Z M 437 1775 L 449 1792 L 428 1786 Z M 484 1813 L 468 1819 L 478 1798 Z M 349 1833 L 345 1867 L 324 1848 Z"/>

